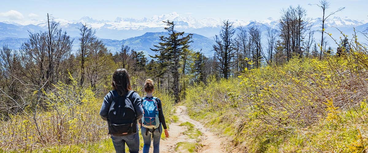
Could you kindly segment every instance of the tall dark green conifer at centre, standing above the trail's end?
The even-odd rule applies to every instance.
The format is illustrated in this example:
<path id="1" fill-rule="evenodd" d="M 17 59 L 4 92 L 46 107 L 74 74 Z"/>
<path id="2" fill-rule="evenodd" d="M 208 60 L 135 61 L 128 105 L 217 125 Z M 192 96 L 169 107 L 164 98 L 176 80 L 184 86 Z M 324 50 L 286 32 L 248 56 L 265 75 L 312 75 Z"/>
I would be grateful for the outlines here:
<path id="1" fill-rule="evenodd" d="M 170 73 L 173 76 L 173 93 L 175 96 L 175 103 L 179 102 L 179 69 L 181 68 L 180 60 L 182 55 L 184 54 L 184 50 L 190 47 L 190 43 L 192 35 L 188 34 L 184 36 L 184 32 L 177 32 L 174 30 L 174 22 L 164 21 L 166 23 L 167 30 L 169 32 L 169 36 L 160 36 L 161 42 L 158 45 L 153 45 L 156 49 L 152 49 L 159 54 L 153 56 L 153 58 L 157 58 L 159 61 L 165 63 Z"/>

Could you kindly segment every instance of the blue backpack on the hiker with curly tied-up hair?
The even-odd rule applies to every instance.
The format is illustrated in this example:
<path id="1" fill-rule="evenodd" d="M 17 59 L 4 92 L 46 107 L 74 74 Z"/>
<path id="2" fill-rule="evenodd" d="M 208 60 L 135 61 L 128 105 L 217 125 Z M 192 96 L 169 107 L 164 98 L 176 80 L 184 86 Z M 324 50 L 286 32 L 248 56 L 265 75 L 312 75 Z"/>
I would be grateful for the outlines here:
<path id="1" fill-rule="evenodd" d="M 156 97 L 143 98 L 142 108 L 142 126 L 148 129 L 156 129 L 160 126 L 159 109 L 157 106 Z"/>

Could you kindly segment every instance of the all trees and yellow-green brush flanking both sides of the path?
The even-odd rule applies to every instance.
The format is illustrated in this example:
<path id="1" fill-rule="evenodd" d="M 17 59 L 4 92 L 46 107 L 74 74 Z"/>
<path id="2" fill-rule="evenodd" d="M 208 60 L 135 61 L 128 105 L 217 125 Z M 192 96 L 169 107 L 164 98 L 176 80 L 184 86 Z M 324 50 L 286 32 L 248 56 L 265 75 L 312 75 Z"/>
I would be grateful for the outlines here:
<path id="1" fill-rule="evenodd" d="M 344 10 L 329 6 L 312 5 L 320 30 L 301 6 L 282 9 L 266 32 L 224 20 L 211 57 L 191 50 L 192 34 L 173 21 L 163 21 L 169 34 L 147 56 L 129 45 L 109 51 L 89 25 L 74 40 L 47 15 L 46 31 L 29 32 L 19 50 L 0 49 L 0 152 L 113 148 L 98 112 L 118 68 L 141 96 L 145 80 L 155 82 L 169 123 L 185 105 L 231 141 L 228 152 L 367 152 L 368 29 L 326 32 L 334 27 L 325 20 Z"/>

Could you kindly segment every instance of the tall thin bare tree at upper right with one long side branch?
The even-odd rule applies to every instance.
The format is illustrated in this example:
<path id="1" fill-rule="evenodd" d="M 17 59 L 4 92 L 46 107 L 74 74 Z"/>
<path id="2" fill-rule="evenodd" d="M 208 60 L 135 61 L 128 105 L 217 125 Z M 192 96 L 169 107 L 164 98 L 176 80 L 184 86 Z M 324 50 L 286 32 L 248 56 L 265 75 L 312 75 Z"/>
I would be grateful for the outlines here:
<path id="1" fill-rule="evenodd" d="M 328 19 L 331 15 L 335 14 L 336 12 L 340 12 L 342 10 L 345 9 L 345 7 L 340 7 L 339 9 L 337 9 L 335 12 L 331 12 L 330 14 L 326 14 L 326 10 L 330 7 L 330 2 L 327 1 L 327 0 L 321 0 L 319 1 L 319 4 L 309 4 L 309 5 L 315 5 L 315 6 L 318 6 L 319 8 L 321 8 L 322 12 L 323 12 L 323 15 L 322 15 L 322 30 L 321 30 L 321 33 L 322 33 L 322 37 L 321 37 L 321 46 L 319 47 L 320 49 L 320 52 L 319 52 L 319 59 L 321 60 L 322 59 L 322 50 L 323 50 L 323 47 L 326 46 L 326 45 L 323 45 L 323 43 L 325 41 L 323 41 L 323 33 L 325 33 L 325 21 L 326 19 Z"/>

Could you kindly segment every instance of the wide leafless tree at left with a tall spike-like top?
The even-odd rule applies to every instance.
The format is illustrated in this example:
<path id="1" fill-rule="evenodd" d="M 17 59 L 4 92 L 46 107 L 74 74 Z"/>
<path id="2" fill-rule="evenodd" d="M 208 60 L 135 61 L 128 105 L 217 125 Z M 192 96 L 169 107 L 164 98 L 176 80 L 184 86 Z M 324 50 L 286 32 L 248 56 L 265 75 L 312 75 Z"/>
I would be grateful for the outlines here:
<path id="1" fill-rule="evenodd" d="M 23 65 L 33 84 L 50 87 L 59 79 L 60 63 L 69 57 L 73 40 L 58 28 L 59 23 L 47 20 L 47 32 L 29 33 L 29 40 L 21 46 Z M 37 79 L 35 79 L 37 78 Z"/>

